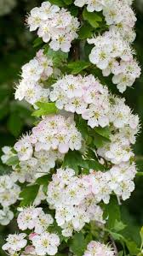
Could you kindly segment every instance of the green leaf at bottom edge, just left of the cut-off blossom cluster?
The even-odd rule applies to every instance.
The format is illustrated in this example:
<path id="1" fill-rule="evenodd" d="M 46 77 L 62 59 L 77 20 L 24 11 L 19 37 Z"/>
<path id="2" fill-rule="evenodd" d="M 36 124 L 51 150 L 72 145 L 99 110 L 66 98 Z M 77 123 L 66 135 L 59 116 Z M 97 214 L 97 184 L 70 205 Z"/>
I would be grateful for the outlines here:
<path id="1" fill-rule="evenodd" d="M 81 231 L 73 235 L 70 247 L 72 249 L 72 253 L 74 253 L 75 255 L 83 255 L 86 249 L 86 243 L 84 241 L 84 236 Z"/>

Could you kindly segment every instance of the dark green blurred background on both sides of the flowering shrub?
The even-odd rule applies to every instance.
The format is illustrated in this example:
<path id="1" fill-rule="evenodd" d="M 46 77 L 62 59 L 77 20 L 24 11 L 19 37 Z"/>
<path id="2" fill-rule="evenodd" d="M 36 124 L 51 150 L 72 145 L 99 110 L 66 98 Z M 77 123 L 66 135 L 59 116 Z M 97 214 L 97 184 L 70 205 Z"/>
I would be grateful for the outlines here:
<path id="1" fill-rule="evenodd" d="M 13 145 L 14 141 L 31 128 L 33 119 L 31 110 L 27 104 L 14 101 L 14 86 L 20 79 L 20 67 L 35 54 L 32 42 L 34 33 L 26 29 L 25 17 L 27 12 L 42 3 L 39 0 L 19 0 L 16 7 L 9 15 L 0 17 L 0 148 L 4 145 Z M 134 3 L 137 14 L 137 37 L 134 48 L 137 51 L 136 58 L 143 65 L 143 0 Z M 140 123 L 143 121 L 143 74 L 136 80 L 133 88 L 128 88 L 123 94 L 127 103 L 140 115 Z M 138 170 L 143 171 L 143 133 L 142 128 L 134 146 Z M 0 174 L 8 170 L 0 163 Z M 139 230 L 143 225 L 143 177 L 135 180 L 136 189 L 131 199 L 122 206 L 122 216 L 129 223 L 127 235 L 140 243 Z M 9 228 L 0 228 L 0 244 L 6 234 L 13 232 L 14 223 Z M 5 255 L 0 249 L 0 255 Z"/>

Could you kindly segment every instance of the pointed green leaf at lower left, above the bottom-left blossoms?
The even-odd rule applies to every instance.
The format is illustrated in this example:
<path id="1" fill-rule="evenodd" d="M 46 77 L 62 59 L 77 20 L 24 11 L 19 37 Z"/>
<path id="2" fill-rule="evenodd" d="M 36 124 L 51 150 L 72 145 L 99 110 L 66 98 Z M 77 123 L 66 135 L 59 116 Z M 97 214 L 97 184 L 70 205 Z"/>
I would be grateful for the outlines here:
<path id="1" fill-rule="evenodd" d="M 20 202 L 20 206 L 31 205 L 37 197 L 39 187 L 40 186 L 37 184 L 26 187 L 20 193 L 20 198 L 22 199 L 22 201 Z"/>

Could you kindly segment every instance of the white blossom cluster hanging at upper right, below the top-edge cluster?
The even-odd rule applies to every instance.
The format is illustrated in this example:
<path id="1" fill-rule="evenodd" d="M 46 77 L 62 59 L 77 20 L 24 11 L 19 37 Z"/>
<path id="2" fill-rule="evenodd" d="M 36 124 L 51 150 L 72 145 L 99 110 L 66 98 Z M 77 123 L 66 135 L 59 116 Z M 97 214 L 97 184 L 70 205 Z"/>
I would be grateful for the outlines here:
<path id="1" fill-rule="evenodd" d="M 94 39 L 88 39 L 94 48 L 89 54 L 89 60 L 102 70 L 104 76 L 113 74 L 112 82 L 119 92 L 124 92 L 127 86 L 132 86 L 140 77 L 140 67 L 133 57 L 133 50 L 119 33 L 111 30 Z"/>

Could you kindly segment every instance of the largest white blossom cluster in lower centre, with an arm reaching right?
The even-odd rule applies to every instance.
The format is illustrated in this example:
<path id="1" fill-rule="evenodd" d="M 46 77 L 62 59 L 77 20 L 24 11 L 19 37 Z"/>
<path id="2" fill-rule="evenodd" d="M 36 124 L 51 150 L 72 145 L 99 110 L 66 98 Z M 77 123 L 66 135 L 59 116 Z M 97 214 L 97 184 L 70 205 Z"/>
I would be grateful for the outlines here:
<path id="1" fill-rule="evenodd" d="M 109 203 L 112 193 L 123 200 L 134 190 L 135 164 L 113 165 L 106 172 L 90 170 L 87 176 L 75 176 L 72 169 L 59 169 L 49 182 L 47 201 L 55 210 L 55 219 L 64 236 L 80 231 L 85 223 L 104 223 L 103 211 L 97 205 Z"/>

